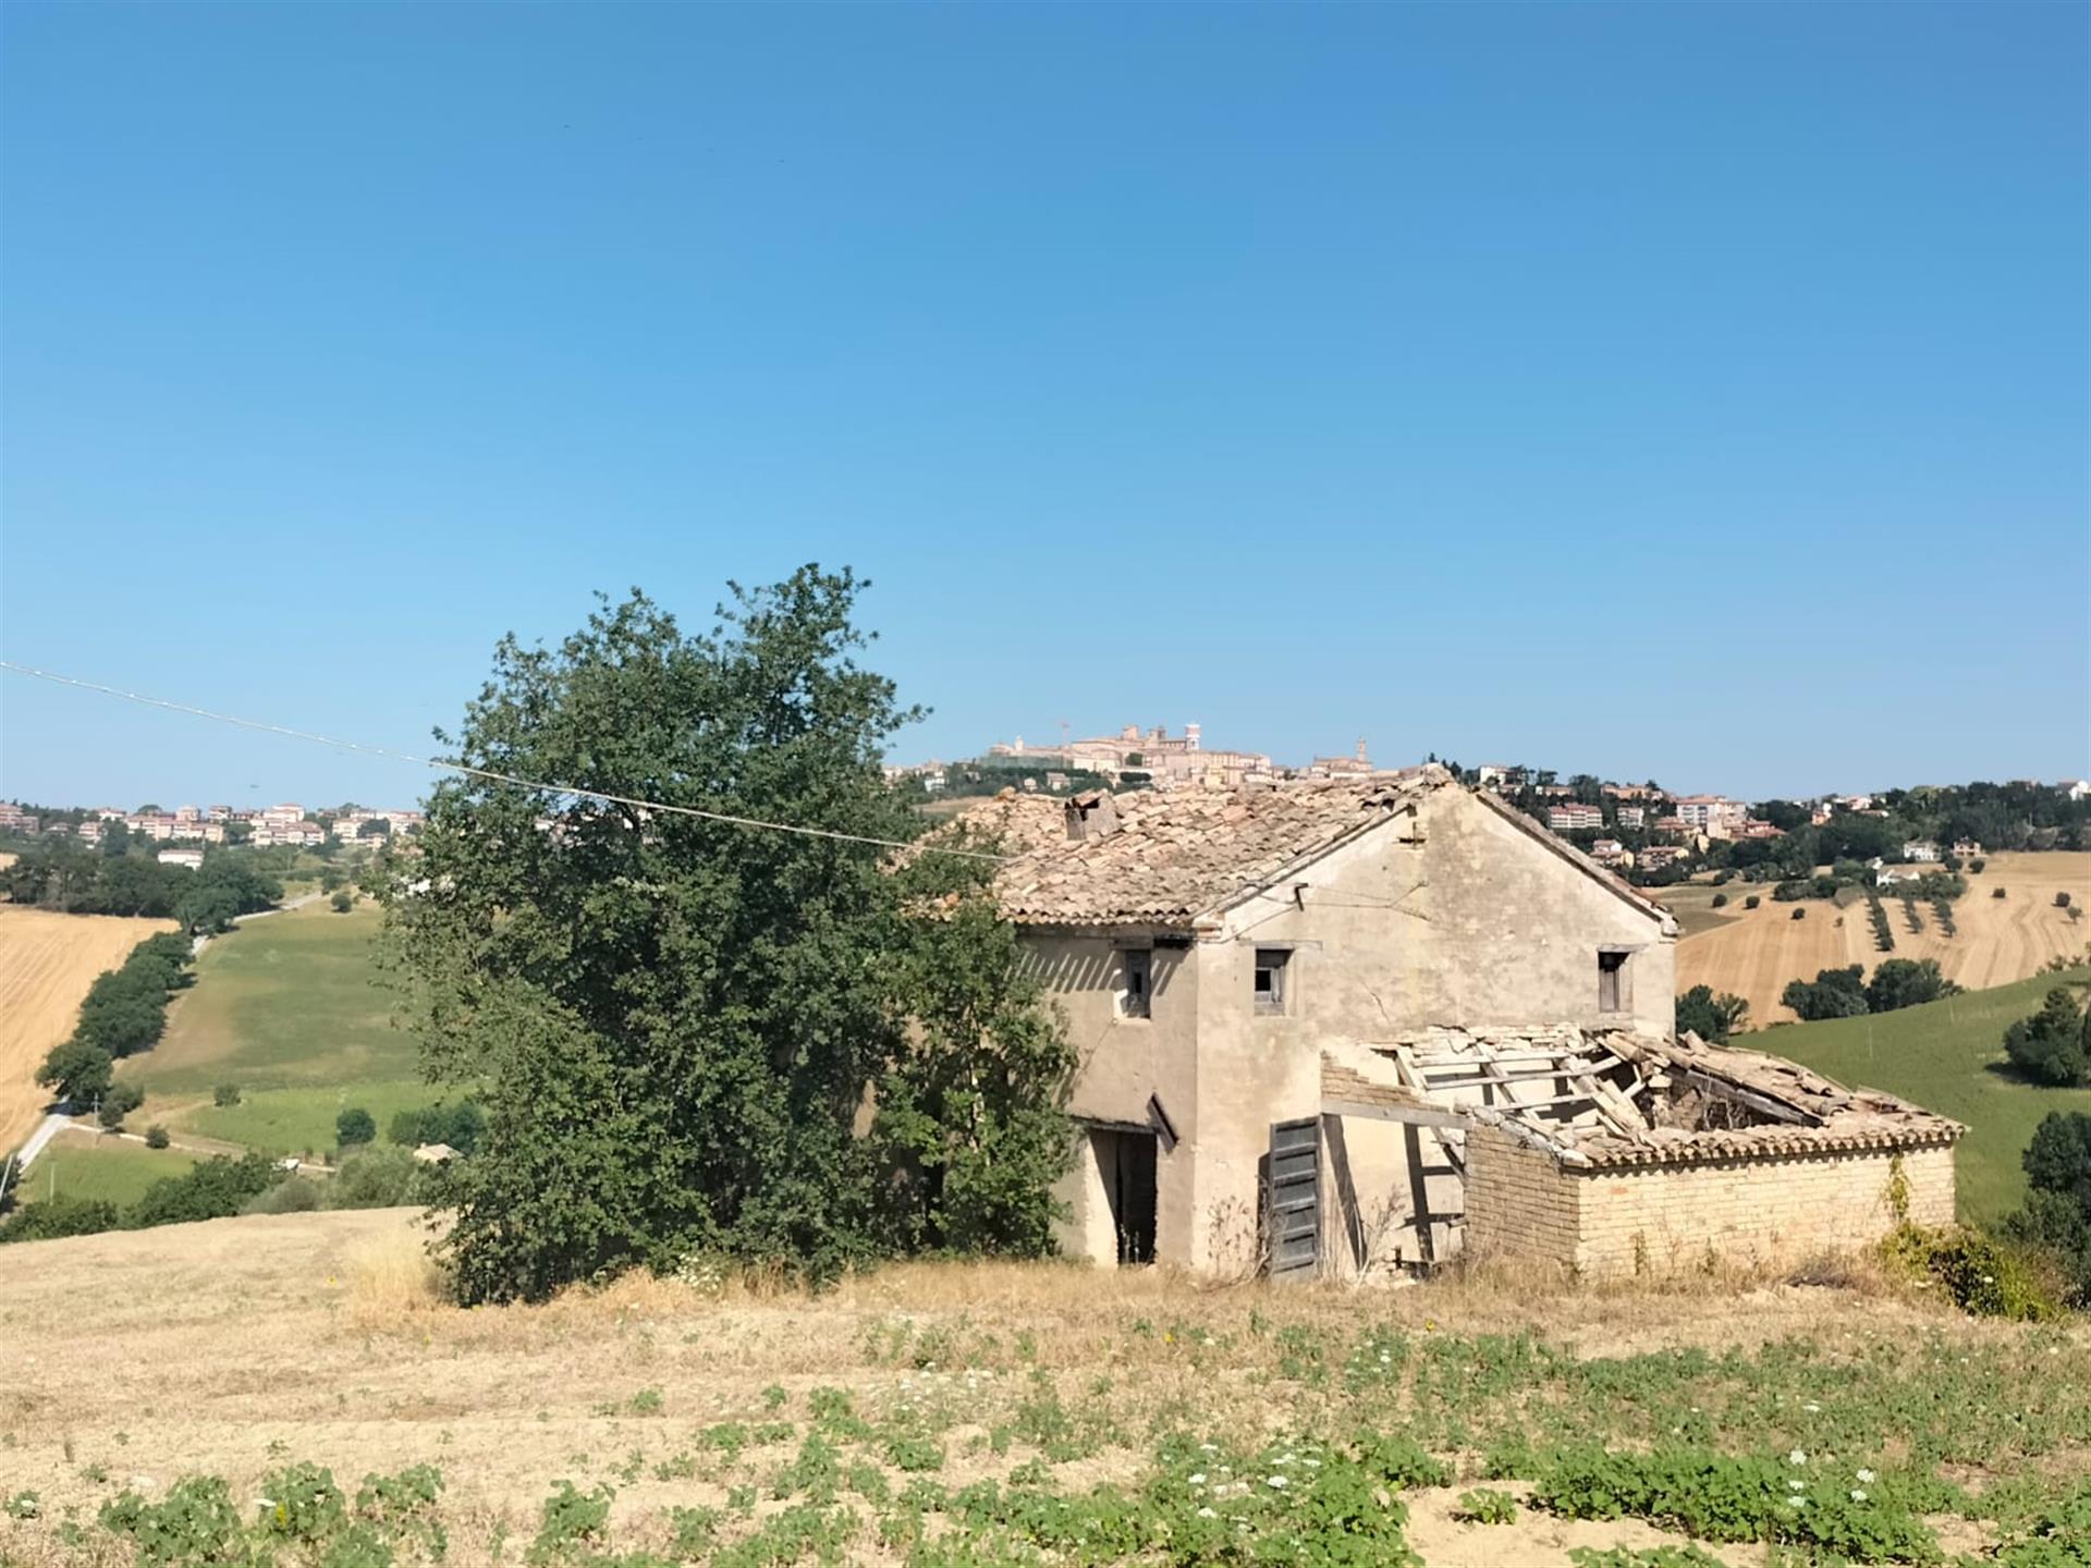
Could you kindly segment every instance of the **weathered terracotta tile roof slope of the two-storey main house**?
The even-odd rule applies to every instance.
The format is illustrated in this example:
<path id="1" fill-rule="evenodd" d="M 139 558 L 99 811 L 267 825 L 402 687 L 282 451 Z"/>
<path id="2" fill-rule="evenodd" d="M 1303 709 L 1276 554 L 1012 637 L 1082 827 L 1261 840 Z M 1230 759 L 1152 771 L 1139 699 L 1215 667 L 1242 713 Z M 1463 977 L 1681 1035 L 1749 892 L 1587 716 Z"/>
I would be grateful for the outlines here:
<path id="1" fill-rule="evenodd" d="M 1041 847 L 995 876 L 1018 924 L 1190 926 L 1437 788 L 1443 767 L 1242 790 L 1135 790 L 1117 830 Z"/>

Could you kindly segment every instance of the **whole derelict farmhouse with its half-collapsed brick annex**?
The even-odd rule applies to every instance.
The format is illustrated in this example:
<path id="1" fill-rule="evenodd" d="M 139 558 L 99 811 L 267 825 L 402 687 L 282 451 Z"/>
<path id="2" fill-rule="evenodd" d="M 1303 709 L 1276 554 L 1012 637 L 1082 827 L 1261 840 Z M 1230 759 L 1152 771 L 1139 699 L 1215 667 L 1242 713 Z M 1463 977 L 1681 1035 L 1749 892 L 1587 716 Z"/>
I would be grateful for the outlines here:
<path id="1" fill-rule="evenodd" d="M 1079 1052 L 1071 1254 L 1608 1275 L 1953 1215 L 1955 1123 L 1677 1039 L 1671 916 L 1439 767 L 981 817 Z"/>

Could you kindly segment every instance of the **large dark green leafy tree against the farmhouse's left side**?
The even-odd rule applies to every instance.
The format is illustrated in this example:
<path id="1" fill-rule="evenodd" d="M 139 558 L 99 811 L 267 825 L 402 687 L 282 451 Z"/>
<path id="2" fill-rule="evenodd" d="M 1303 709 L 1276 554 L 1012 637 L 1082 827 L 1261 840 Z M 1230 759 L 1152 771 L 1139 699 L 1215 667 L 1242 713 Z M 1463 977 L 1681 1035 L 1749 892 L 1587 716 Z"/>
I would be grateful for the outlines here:
<path id="1" fill-rule="evenodd" d="M 962 941 L 976 863 L 895 870 L 918 820 L 880 757 L 916 713 L 857 663 L 859 590 L 736 585 L 700 636 L 604 600 L 556 648 L 504 640 L 443 736 L 481 771 L 435 790 L 383 897 L 429 1073 L 487 1114 L 450 1173 L 466 1298 L 698 1250 L 820 1275 L 1046 1246 L 1066 1045 L 1014 945 Z"/>

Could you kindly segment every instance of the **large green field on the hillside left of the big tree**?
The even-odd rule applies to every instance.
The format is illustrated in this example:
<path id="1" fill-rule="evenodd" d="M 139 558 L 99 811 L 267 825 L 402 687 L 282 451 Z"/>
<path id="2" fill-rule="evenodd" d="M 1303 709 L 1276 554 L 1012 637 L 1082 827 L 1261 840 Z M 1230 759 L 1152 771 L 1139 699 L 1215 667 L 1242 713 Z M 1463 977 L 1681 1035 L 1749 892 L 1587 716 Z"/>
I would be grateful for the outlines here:
<path id="1" fill-rule="evenodd" d="M 383 1129 L 395 1110 L 441 1098 L 418 1077 L 414 1035 L 393 1027 L 372 953 L 378 918 L 370 905 L 335 914 L 322 899 L 217 937 L 165 1039 L 123 1064 L 146 1091 L 142 1114 L 303 1154 L 335 1146 L 335 1116 L 349 1106 Z M 240 1104 L 213 1106 L 220 1083 L 238 1085 Z"/>

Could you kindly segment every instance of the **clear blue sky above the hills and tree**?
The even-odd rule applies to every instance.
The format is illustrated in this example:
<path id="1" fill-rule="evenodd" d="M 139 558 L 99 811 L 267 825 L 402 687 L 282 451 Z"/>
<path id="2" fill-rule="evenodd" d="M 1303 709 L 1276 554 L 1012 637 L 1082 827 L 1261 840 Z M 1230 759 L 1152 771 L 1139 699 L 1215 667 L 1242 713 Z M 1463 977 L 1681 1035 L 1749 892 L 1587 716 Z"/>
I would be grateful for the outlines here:
<path id="1" fill-rule="evenodd" d="M 420 751 L 818 558 L 905 757 L 2091 774 L 2083 6 L 0 25 L 8 659 Z M 6 797 L 422 786 L 0 705 Z"/>

